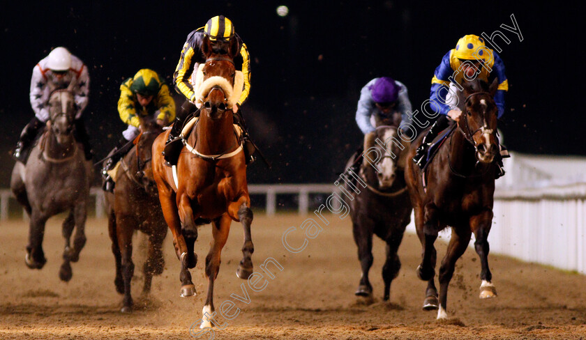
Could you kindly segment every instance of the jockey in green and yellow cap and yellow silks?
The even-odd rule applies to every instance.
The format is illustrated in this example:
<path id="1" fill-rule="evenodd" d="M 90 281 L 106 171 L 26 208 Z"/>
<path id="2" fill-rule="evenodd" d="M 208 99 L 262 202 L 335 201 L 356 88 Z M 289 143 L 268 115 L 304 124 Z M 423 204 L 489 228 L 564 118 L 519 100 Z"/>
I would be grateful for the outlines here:
<path id="1" fill-rule="evenodd" d="M 133 141 L 140 133 L 140 119 L 151 116 L 160 126 L 167 126 L 175 119 L 175 102 L 169 94 L 169 87 L 160 79 L 157 72 L 143 68 L 120 86 L 118 100 L 120 119 L 128 124 L 122 132 L 112 155 L 104 164 L 102 176 L 105 178 L 104 190 L 112 192 L 114 181 L 107 171 L 114 168 L 119 160 L 133 147 Z"/>

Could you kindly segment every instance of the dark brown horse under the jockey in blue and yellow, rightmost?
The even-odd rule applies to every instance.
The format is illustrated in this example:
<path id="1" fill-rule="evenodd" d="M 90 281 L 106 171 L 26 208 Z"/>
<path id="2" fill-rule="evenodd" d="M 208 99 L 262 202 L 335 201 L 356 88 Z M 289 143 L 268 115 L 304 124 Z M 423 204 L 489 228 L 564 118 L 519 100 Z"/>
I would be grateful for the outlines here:
<path id="1" fill-rule="evenodd" d="M 495 297 L 488 269 L 488 232 L 493 220 L 495 192 L 495 156 L 497 141 L 497 106 L 494 95 L 497 82 L 464 82 L 458 91 L 462 114 L 458 128 L 440 146 L 435 159 L 426 168 L 427 187 L 422 173 L 408 162 L 405 180 L 413 203 L 417 235 L 423 247 L 420 279 L 428 281 L 423 309 L 437 309 L 434 284 L 436 252 L 433 243 L 438 231 L 452 227 L 451 240 L 440 267 L 440 300 L 437 318 L 447 318 L 446 300 L 454 265 L 464 254 L 471 234 L 481 261 L 481 298 Z M 421 144 L 418 139 L 410 149 L 411 159 Z"/>

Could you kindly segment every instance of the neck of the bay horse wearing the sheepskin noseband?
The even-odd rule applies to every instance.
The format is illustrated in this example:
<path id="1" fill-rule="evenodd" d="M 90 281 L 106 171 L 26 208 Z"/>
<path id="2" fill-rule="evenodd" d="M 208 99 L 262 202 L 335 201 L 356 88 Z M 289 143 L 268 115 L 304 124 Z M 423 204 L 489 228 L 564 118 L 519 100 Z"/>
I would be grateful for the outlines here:
<path id="1" fill-rule="evenodd" d="M 218 155 L 234 149 L 238 141 L 234 134 L 233 123 L 234 118 L 230 113 L 226 114 L 225 118 L 213 121 L 205 112 L 202 112 L 200 121 L 197 122 L 195 127 L 197 151 L 209 155 Z"/>

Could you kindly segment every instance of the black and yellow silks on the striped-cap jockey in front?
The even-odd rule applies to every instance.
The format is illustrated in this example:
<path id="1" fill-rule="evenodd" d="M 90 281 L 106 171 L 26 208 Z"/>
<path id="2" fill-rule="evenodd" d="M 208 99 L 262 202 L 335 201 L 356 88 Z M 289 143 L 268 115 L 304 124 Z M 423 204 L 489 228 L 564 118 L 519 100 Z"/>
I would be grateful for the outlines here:
<path id="1" fill-rule="evenodd" d="M 175 90 L 183 94 L 191 102 L 195 102 L 195 92 L 189 79 L 195 70 L 196 63 L 205 63 L 206 59 L 202 53 L 202 41 L 204 38 L 204 27 L 200 27 L 192 31 L 187 36 L 183 49 L 181 49 L 181 57 L 179 63 L 175 68 L 173 74 L 173 82 Z M 234 33 L 234 38 L 238 42 L 240 53 L 234 58 L 234 64 L 241 64 L 241 71 L 244 75 L 244 85 L 242 94 L 240 95 L 239 105 L 243 104 L 250 93 L 250 55 L 246 44 L 241 40 L 238 34 Z"/>

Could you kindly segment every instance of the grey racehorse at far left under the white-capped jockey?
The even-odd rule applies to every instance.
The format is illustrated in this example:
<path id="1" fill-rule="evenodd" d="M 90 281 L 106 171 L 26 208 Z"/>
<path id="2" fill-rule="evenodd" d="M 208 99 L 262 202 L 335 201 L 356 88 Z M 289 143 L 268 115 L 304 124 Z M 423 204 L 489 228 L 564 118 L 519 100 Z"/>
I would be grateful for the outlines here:
<path id="1" fill-rule="evenodd" d="M 27 164 L 16 162 L 10 188 L 30 217 L 29 244 L 25 263 L 31 269 L 43 268 L 45 222 L 69 210 L 63 222 L 63 264 L 59 277 L 69 281 L 70 262 L 77 262 L 85 245 L 91 164 L 84 159 L 82 146 L 73 137 L 75 102 L 68 90 L 57 90 L 49 99 L 50 119 L 40 141 L 31 150 Z M 75 228 L 73 247 L 70 238 Z"/>

